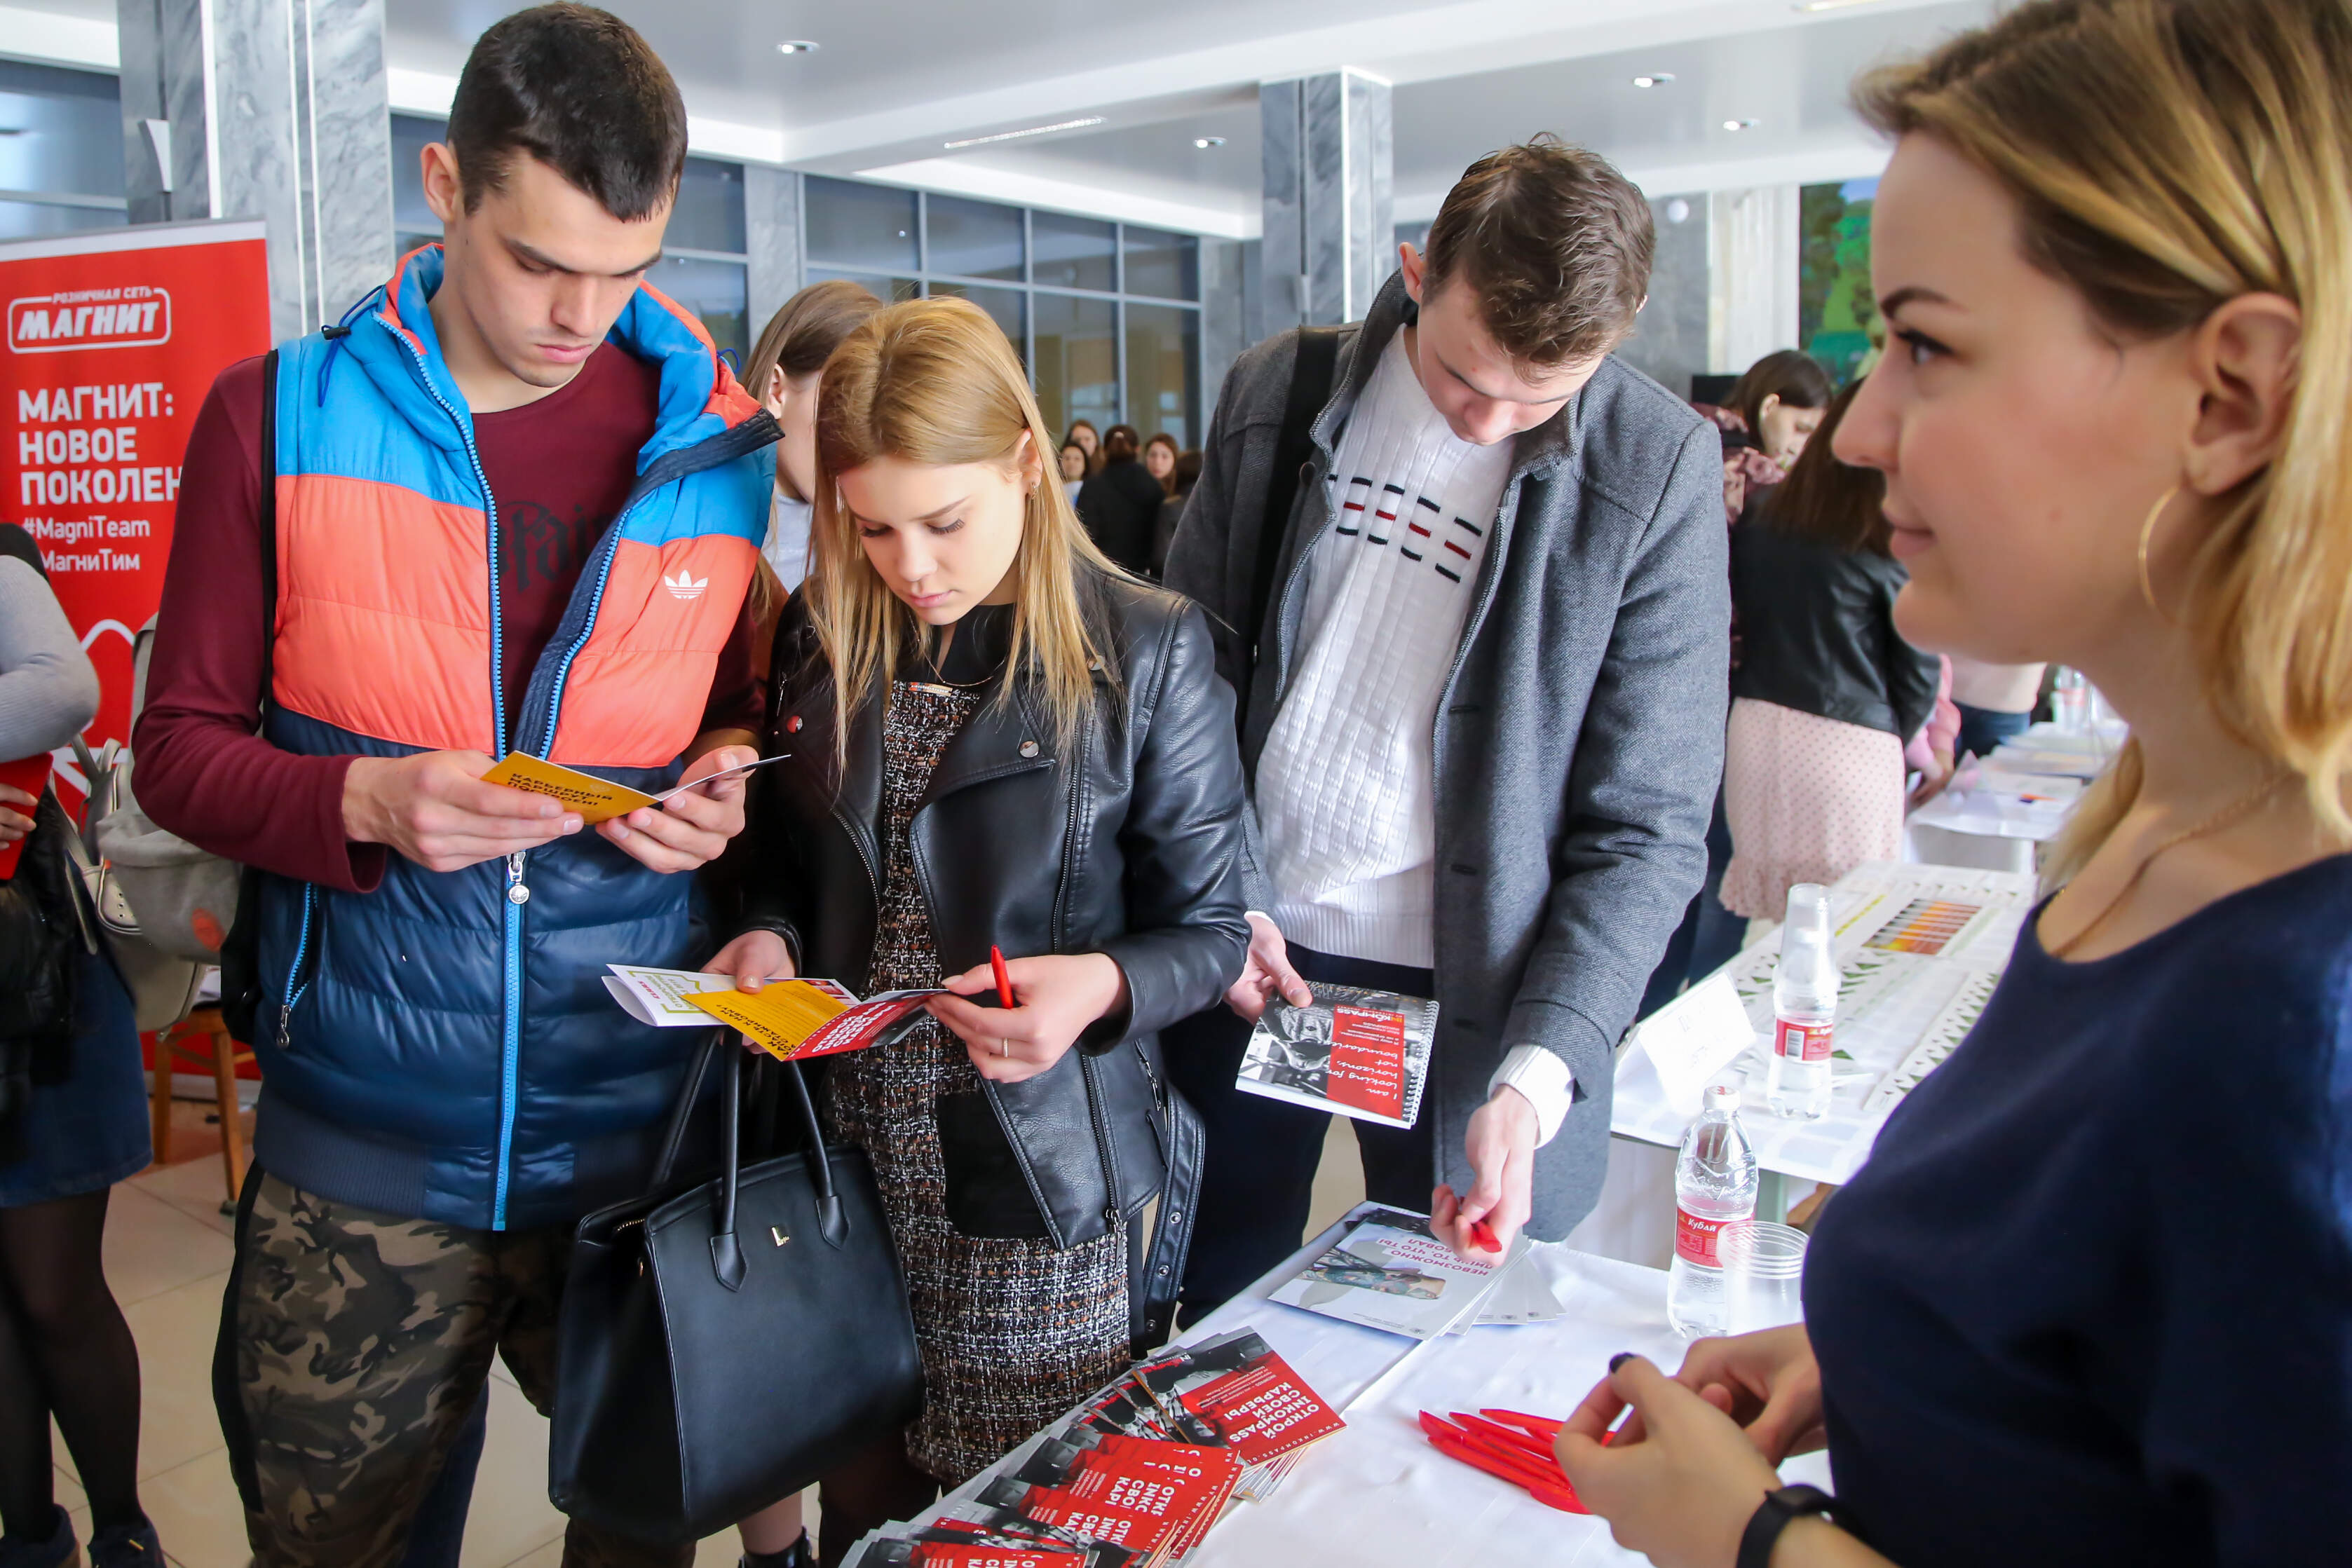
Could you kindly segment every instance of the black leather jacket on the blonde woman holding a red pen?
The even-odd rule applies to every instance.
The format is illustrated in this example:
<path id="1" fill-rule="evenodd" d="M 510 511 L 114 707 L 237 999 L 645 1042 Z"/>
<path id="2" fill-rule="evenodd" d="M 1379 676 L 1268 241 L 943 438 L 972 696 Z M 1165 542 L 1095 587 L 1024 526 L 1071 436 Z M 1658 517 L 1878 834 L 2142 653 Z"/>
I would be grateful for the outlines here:
<path id="1" fill-rule="evenodd" d="M 1075 766 L 1056 759 L 1042 698 L 985 701 L 948 743 L 910 825 L 915 875 L 941 973 L 1007 957 L 1105 952 L 1127 976 L 1127 1013 L 1096 1023 L 1051 1070 L 938 1103 L 948 1215 L 964 1234 L 1091 1241 L 1112 1211 L 1155 1194 L 1162 1239 L 1148 1265 L 1174 1293 L 1197 1175 L 1197 1119 L 1157 1065 L 1157 1032 L 1242 973 L 1242 764 L 1232 691 L 1209 625 L 1188 599 L 1136 583 L 1089 597 L 1120 682 L 1096 675 Z M 746 926 L 781 931 L 800 973 L 866 990 L 873 961 L 882 811 L 882 701 L 849 724 L 835 790 L 833 672 L 800 595 L 776 625 L 769 755 L 753 778 Z M 1190 1133 L 1188 1133 L 1190 1128 Z M 1190 1168 L 1185 1168 L 1190 1166 Z M 1143 1281 L 1138 1281 L 1138 1291 Z"/>

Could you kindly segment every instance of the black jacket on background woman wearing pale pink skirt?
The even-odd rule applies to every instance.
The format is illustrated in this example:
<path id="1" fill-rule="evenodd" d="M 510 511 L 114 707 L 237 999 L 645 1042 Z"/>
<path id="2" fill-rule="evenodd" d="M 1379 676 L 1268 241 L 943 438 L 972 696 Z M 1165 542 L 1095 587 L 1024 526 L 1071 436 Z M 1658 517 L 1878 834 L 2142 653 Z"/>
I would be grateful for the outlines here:
<path id="1" fill-rule="evenodd" d="M 1896 632 L 1896 595 L 1910 574 L 1877 550 L 1835 550 L 1785 534 L 1759 501 L 1731 529 L 1731 607 L 1740 623 L 1731 696 L 1910 741 L 1936 712 L 1943 679 L 1943 663 Z"/>

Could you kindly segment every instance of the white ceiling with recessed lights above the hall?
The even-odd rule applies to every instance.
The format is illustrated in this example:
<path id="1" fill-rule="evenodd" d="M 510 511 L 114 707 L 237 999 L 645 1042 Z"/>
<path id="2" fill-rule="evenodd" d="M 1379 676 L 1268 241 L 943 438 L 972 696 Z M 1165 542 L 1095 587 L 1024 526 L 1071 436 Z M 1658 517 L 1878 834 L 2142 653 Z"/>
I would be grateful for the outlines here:
<path id="1" fill-rule="evenodd" d="M 1479 153 L 1559 132 L 1653 193 L 1870 174 L 1863 66 L 1994 0 L 609 0 L 677 75 L 696 148 L 1131 221 L 1251 235 L 1261 80 L 1395 85 L 1399 219 Z M 383 0 L 395 108 L 437 110 L 513 0 Z M 113 0 L 0 0 L 0 52 L 111 63 Z M 776 42 L 811 38 L 816 54 Z M 103 54 L 106 59 L 99 59 Z M 1675 82 L 1630 85 L 1665 71 Z M 1103 115 L 962 153 L 946 141 Z M 1726 132 L 1724 120 L 1757 120 Z M 1197 136 L 1225 146 L 1197 150 Z"/>

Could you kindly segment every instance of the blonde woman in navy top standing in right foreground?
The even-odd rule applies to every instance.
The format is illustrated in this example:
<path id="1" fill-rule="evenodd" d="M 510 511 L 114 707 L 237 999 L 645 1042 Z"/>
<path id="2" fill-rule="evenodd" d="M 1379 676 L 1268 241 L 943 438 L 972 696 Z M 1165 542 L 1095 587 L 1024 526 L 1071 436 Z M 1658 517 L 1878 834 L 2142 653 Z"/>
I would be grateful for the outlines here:
<path id="1" fill-rule="evenodd" d="M 2044 0 L 1858 106 L 1891 341 L 1835 447 L 1896 621 L 2082 668 L 2133 741 L 1806 1326 L 1621 1356 L 1559 1458 L 1670 1568 L 2340 1568 L 2352 5 Z M 1835 1502 L 1776 1490 L 1823 1443 Z"/>

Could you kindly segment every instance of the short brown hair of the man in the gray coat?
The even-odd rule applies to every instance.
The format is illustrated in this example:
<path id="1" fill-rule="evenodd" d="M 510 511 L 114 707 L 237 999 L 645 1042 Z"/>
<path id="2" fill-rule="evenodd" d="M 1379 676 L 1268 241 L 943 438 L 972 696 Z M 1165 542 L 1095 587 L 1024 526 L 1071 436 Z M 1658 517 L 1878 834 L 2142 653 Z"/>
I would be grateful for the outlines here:
<path id="1" fill-rule="evenodd" d="M 1430 223 L 1421 296 L 1461 280 L 1522 364 L 1609 353 L 1649 294 L 1649 200 L 1599 153 L 1543 134 L 1470 165 Z"/>

